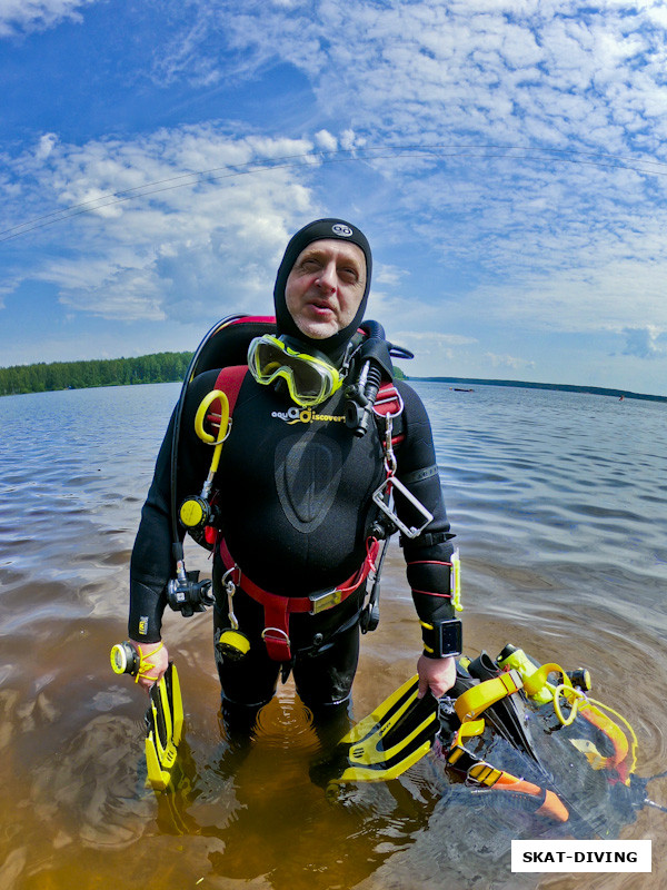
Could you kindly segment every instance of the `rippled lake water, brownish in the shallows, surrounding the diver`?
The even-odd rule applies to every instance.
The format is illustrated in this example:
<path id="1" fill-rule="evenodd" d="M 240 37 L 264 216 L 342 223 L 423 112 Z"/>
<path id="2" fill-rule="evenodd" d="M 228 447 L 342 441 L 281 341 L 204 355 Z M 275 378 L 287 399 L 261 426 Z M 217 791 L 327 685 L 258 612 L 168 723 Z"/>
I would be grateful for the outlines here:
<path id="1" fill-rule="evenodd" d="M 514 642 L 539 661 L 588 668 L 596 698 L 637 733 L 637 773 L 661 773 L 667 406 L 416 388 L 461 551 L 466 652 L 496 655 Z M 108 653 L 126 635 L 132 541 L 178 392 L 167 384 L 0 399 L 1 890 L 667 886 L 667 813 L 656 808 L 620 828 L 623 839 L 653 840 L 653 876 L 521 876 L 510 872 L 509 841 L 526 825 L 512 828 L 499 792 L 477 795 L 469 810 L 462 794 L 474 794 L 462 785 L 448 798 L 437 762 L 327 798 L 309 780 L 317 741 L 289 682 L 230 772 L 210 614 L 166 620 L 189 788 L 159 798 L 145 788 L 145 695 L 111 673 Z M 192 546 L 188 567 L 208 571 L 206 554 Z M 414 673 L 418 649 L 392 546 L 380 627 L 362 641 L 358 718 Z M 667 804 L 667 780 L 647 790 Z"/>

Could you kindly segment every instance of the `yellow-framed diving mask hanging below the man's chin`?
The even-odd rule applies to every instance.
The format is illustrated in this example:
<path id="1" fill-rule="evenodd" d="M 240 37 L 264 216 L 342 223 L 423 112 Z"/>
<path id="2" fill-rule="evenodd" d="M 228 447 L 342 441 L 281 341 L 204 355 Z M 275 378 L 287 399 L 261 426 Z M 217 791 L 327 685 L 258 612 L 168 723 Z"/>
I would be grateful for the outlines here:
<path id="1" fill-rule="evenodd" d="M 326 357 L 308 355 L 286 342 L 287 338 L 265 334 L 256 337 L 248 349 L 248 367 L 261 384 L 285 379 L 292 400 L 302 408 L 319 405 L 342 386 L 344 375 Z"/>

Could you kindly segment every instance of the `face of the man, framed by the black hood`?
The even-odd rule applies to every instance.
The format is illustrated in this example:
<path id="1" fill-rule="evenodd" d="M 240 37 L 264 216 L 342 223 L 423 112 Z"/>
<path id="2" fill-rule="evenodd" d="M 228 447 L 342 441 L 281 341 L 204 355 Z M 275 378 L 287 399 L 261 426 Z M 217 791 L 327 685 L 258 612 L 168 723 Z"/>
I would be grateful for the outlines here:
<path id="1" fill-rule="evenodd" d="M 295 324 L 307 337 L 326 339 L 347 327 L 366 290 L 366 257 L 356 244 L 323 238 L 306 247 L 285 285 Z"/>

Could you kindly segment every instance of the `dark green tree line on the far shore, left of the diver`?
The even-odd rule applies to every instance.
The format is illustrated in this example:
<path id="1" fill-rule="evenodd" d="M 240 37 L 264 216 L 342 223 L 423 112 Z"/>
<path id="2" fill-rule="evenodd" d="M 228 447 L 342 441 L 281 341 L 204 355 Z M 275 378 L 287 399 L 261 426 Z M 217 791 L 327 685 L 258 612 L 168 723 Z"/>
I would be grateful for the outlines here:
<path id="1" fill-rule="evenodd" d="M 92 362 L 40 362 L 0 368 L 0 395 L 128 386 L 137 383 L 182 380 L 192 353 L 155 353 L 138 358 L 99 358 Z"/>

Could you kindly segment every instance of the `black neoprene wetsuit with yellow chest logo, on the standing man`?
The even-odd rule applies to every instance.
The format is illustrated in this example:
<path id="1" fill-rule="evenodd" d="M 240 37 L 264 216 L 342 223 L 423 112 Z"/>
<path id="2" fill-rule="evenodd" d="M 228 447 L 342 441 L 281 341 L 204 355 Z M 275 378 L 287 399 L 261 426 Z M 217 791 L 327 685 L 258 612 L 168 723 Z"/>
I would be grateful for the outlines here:
<path id="1" fill-rule="evenodd" d="M 182 417 L 179 454 L 179 503 L 201 490 L 211 448 L 193 429 L 203 396 L 217 372 L 196 377 Z M 402 541 L 408 581 L 422 620 L 454 616 L 449 594 L 452 547 L 436 469 L 430 424 L 416 393 L 397 383 L 405 411 L 405 439 L 397 446 L 397 477 L 434 514 L 416 541 Z M 366 557 L 367 538 L 378 510 L 372 493 L 385 478 L 382 448 L 374 425 L 355 436 L 345 424 L 345 395 L 339 389 L 311 409 L 296 407 L 273 386 L 247 374 L 222 447 L 216 487 L 222 505 L 222 535 L 241 570 L 259 586 L 285 596 L 307 596 L 340 584 Z M 173 418 L 172 418 L 173 423 Z M 135 640 L 160 639 L 166 585 L 173 576 L 170 525 L 171 425 L 158 457 L 132 552 L 129 632 Z M 418 516 L 397 500 L 409 525 Z M 217 639 L 229 626 L 220 556 L 213 561 Z M 292 614 L 289 632 L 293 676 L 300 698 L 312 709 L 349 698 L 358 660 L 358 616 L 364 585 L 344 603 L 318 615 Z M 251 650 L 239 662 L 216 652 L 223 700 L 260 705 L 273 694 L 280 664 L 261 640 L 263 610 L 241 591 L 233 597 L 240 630 Z"/>

